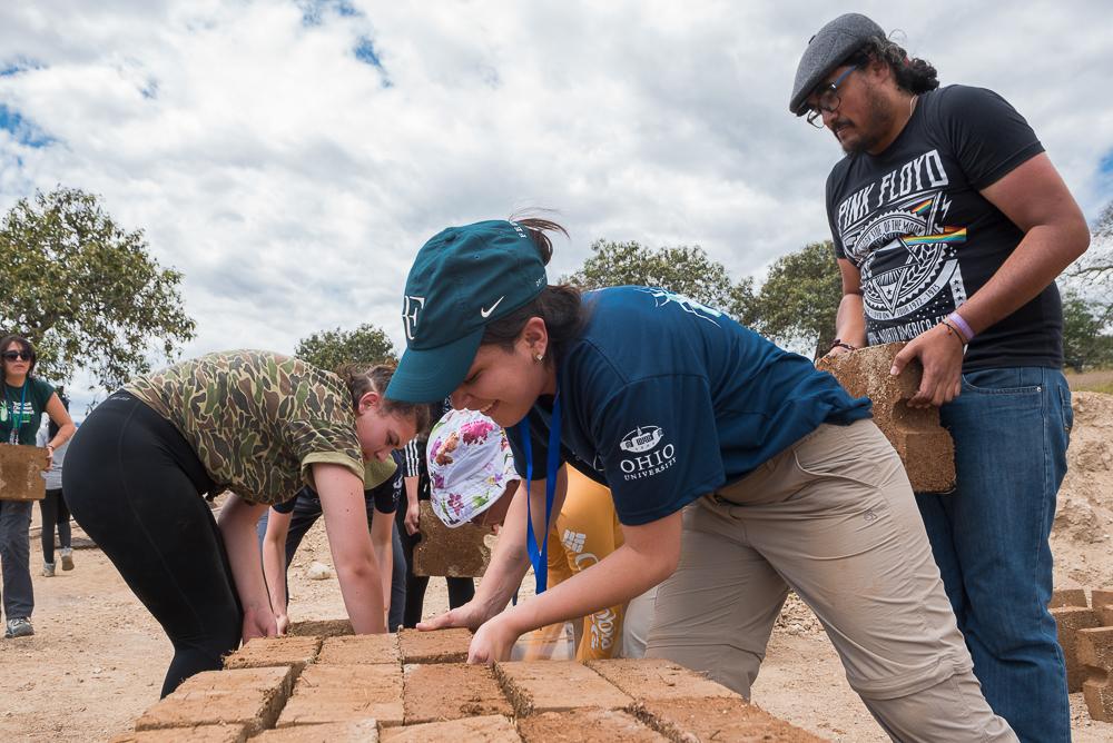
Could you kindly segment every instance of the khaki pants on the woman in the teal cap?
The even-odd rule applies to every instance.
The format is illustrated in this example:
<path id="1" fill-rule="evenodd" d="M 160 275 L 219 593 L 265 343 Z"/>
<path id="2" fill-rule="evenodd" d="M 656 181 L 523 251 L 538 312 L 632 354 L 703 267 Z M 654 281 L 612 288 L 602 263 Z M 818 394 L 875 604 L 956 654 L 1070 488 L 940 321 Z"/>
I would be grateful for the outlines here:
<path id="1" fill-rule="evenodd" d="M 993 714 L 899 457 L 871 420 L 823 425 L 684 509 L 647 656 L 749 696 L 791 587 L 897 741 L 1015 741 Z"/>

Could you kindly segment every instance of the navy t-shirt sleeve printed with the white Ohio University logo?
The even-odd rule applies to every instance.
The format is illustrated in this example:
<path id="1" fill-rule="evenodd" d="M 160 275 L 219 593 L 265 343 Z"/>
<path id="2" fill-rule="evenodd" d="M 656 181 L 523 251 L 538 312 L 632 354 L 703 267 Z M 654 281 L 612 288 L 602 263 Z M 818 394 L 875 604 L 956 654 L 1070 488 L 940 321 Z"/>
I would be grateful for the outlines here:
<path id="1" fill-rule="evenodd" d="M 592 438 L 622 524 L 663 518 L 726 479 L 703 377 L 630 383 L 594 418 Z"/>

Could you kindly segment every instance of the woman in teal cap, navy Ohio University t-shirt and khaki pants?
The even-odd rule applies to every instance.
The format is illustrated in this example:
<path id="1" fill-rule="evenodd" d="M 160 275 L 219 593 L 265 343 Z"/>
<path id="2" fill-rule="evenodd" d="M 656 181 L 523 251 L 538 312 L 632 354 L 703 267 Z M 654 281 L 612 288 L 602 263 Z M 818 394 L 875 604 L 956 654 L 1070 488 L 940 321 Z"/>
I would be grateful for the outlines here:
<path id="1" fill-rule="evenodd" d="M 789 588 L 899 740 L 1015 740 L 975 680 L 908 478 L 834 377 L 672 293 L 549 286 L 551 221 L 451 227 L 417 254 L 387 397 L 477 409 L 512 433 L 515 497 L 475 598 L 470 660 L 664 581 L 647 655 L 749 695 Z M 611 488 L 626 543 L 503 611 L 559 513 L 563 465 Z M 529 528 L 528 528 L 529 524 Z M 528 558 L 529 557 L 529 558 Z M 420 625 L 421 626 L 421 625 Z M 936 710 L 961 711 L 939 715 Z"/>

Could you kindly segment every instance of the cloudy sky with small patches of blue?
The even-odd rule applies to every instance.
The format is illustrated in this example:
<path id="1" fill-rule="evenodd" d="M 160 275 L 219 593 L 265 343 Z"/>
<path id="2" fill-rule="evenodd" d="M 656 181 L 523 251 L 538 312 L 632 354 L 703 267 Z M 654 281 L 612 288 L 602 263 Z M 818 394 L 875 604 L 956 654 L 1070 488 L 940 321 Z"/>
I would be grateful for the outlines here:
<path id="1" fill-rule="evenodd" d="M 102 197 L 185 274 L 187 355 L 370 321 L 447 225 L 555 209 L 701 245 L 733 277 L 827 238 L 840 150 L 787 111 L 857 10 L 944 83 L 1004 95 L 1089 218 L 1113 198 L 1113 10 L 1092 2 L 40 0 L 0 4 L 0 208 Z"/>

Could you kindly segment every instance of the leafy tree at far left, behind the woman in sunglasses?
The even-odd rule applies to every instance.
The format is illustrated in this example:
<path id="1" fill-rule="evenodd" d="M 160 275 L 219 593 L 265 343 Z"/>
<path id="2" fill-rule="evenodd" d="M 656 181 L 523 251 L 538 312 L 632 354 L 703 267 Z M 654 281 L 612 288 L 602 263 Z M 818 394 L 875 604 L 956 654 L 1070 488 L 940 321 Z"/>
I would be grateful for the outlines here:
<path id="1" fill-rule="evenodd" d="M 150 370 L 194 337 L 181 308 L 181 274 L 148 255 L 97 197 L 59 187 L 20 199 L 0 225 L 0 329 L 27 336 L 37 373 L 68 382 L 77 366 L 107 390 Z"/>

